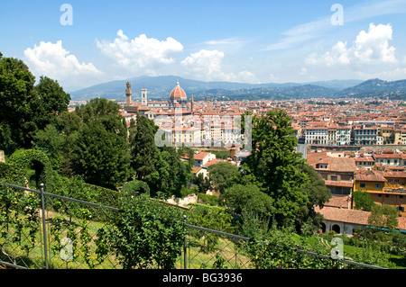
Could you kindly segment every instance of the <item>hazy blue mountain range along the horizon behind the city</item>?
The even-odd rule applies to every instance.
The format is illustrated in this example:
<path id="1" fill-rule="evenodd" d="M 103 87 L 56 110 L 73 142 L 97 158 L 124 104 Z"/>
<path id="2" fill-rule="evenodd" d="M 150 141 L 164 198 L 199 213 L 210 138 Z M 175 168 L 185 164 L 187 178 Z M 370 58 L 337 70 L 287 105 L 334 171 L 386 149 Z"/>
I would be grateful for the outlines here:
<path id="1" fill-rule="evenodd" d="M 345 97 L 389 97 L 406 99 L 406 80 L 383 81 L 371 79 L 331 80 L 312 83 L 284 84 L 243 84 L 231 82 L 203 82 L 190 80 L 180 76 L 140 76 L 125 80 L 110 81 L 99 85 L 71 92 L 72 100 L 89 100 L 105 97 L 125 101 L 125 83 L 130 81 L 133 100 L 141 99 L 141 89 L 146 88 L 149 99 L 168 99 L 176 82 L 185 90 L 188 97 L 193 94 L 196 101 L 210 98 L 212 100 L 242 99 L 302 99 L 302 98 L 345 98 Z"/>

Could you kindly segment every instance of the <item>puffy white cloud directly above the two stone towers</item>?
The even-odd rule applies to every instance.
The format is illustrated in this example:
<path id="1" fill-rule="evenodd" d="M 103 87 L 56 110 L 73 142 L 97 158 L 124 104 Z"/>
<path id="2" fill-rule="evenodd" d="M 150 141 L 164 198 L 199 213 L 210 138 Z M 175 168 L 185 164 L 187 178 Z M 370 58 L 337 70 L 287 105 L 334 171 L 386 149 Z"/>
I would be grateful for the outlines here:
<path id="1" fill-rule="evenodd" d="M 122 30 L 117 31 L 112 42 L 97 40 L 97 47 L 120 67 L 152 76 L 156 74 L 155 68 L 173 63 L 174 55 L 183 50 L 182 44 L 171 37 L 157 40 L 141 34 L 130 40 Z"/>

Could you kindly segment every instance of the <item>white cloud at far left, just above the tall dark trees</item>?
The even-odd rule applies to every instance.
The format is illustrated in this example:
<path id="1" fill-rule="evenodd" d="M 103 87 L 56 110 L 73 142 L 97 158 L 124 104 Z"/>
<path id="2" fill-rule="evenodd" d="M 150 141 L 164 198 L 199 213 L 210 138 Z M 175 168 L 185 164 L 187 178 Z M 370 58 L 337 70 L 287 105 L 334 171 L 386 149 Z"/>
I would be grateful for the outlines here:
<path id="1" fill-rule="evenodd" d="M 84 84 L 82 80 L 102 74 L 92 63 L 79 63 L 76 56 L 62 47 L 61 40 L 41 41 L 40 45 L 25 49 L 24 56 L 32 74 L 48 76 L 60 83 L 80 85 Z"/>

